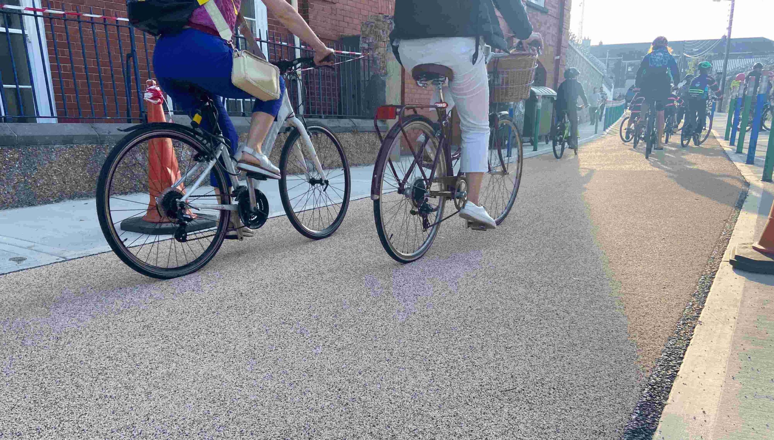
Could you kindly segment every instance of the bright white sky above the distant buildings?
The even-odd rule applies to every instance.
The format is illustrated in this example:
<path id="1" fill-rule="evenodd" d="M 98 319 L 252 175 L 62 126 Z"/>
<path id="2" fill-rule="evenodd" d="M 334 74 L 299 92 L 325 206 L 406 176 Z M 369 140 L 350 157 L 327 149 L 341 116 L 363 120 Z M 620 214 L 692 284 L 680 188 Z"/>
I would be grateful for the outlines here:
<path id="1" fill-rule="evenodd" d="M 586 2 L 584 36 L 591 44 L 717 39 L 728 28 L 731 2 L 723 0 L 572 0 L 570 31 L 578 33 L 580 4 Z M 731 38 L 774 39 L 774 0 L 736 0 Z"/>

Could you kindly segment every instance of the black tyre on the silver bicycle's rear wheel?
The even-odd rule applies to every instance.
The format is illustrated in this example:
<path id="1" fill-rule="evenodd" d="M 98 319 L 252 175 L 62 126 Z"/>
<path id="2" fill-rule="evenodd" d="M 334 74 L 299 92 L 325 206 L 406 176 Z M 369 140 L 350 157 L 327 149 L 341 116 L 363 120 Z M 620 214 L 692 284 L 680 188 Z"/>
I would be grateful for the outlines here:
<path id="1" fill-rule="evenodd" d="M 217 251 L 220 249 L 221 244 L 223 244 L 223 240 L 226 236 L 228 229 L 228 215 L 230 212 L 222 210 L 220 211 L 217 230 L 212 236 L 214 237 L 214 240 L 211 240 L 210 244 L 206 249 L 204 249 L 204 252 L 198 258 L 195 258 L 194 261 L 190 261 L 188 264 L 183 264 L 182 266 L 176 268 L 162 268 L 160 266 L 154 266 L 152 264 L 142 262 L 135 256 L 135 254 L 132 254 L 132 252 L 129 251 L 129 247 L 132 247 L 134 242 L 129 244 L 129 247 L 126 246 L 125 240 L 122 240 L 122 234 L 118 234 L 115 227 L 115 224 L 119 223 L 121 220 L 114 222 L 110 212 L 112 179 L 115 176 L 115 170 L 125 155 L 132 148 L 135 148 L 135 146 L 142 144 L 142 142 L 149 141 L 152 138 L 170 138 L 173 141 L 176 140 L 180 142 L 186 142 L 188 145 L 194 148 L 197 153 L 205 155 L 208 154 L 208 148 L 205 148 L 203 145 L 201 145 L 199 140 L 194 135 L 192 135 L 192 133 L 186 127 L 180 126 L 179 124 L 164 124 L 163 128 L 160 128 L 159 126 L 149 126 L 147 128 L 139 128 L 130 132 L 128 135 L 122 138 L 118 144 L 115 145 L 115 147 L 108 154 L 108 158 L 105 159 L 105 162 L 102 165 L 102 169 L 97 180 L 97 217 L 105 240 L 108 241 L 108 244 L 115 252 L 115 254 L 118 255 L 118 258 L 120 258 L 129 268 L 132 268 L 134 271 L 137 271 L 142 275 L 147 275 L 152 278 L 177 278 L 200 270 L 200 268 L 203 268 L 204 265 L 206 265 L 215 256 L 215 254 L 217 254 Z M 229 195 L 230 192 L 228 190 L 228 185 L 224 183 L 227 182 L 224 172 L 218 166 L 215 166 L 212 169 L 212 172 L 214 172 L 215 179 L 217 180 L 218 184 L 218 189 L 221 192 L 221 203 L 231 203 L 231 196 Z M 151 236 L 150 234 L 148 235 L 149 237 Z M 156 237 L 159 237 L 159 235 L 157 234 Z M 174 238 L 152 241 L 151 251 L 152 246 L 158 243 L 158 246 L 156 247 L 157 262 L 158 249 L 161 247 L 162 243 L 167 240 L 170 241 L 172 246 L 175 245 L 174 243 L 176 240 Z M 142 246 L 144 245 L 145 244 Z"/>

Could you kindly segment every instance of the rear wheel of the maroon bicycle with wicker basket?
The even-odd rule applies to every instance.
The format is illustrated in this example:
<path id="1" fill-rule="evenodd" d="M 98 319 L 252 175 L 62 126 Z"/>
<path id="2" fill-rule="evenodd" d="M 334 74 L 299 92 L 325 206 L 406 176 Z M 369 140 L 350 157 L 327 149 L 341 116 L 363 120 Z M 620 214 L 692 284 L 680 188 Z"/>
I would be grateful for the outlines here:
<path id="1" fill-rule="evenodd" d="M 446 188 L 426 179 L 436 155 L 440 157 L 435 176 L 447 176 L 447 159 L 434 133 L 430 119 L 413 114 L 390 129 L 376 157 L 372 181 L 376 231 L 387 254 L 400 263 L 415 261 L 430 249 L 440 227 L 437 222 L 444 217 L 446 198 L 428 193 Z"/>

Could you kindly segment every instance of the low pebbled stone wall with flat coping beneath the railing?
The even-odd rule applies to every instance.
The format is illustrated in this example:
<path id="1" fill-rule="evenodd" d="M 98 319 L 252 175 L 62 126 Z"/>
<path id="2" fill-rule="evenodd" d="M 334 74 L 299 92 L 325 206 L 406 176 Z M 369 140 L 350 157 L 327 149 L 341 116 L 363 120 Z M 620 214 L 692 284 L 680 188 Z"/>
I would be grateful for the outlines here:
<path id="1" fill-rule="evenodd" d="M 180 120 L 178 120 L 180 118 Z M 182 117 L 175 117 L 183 122 Z M 245 140 L 248 118 L 232 118 Z M 371 165 L 380 146 L 373 122 L 307 119 L 337 133 L 350 166 Z M 111 148 L 128 124 L 0 124 L 0 210 L 94 197 L 97 179 Z M 59 131 L 57 134 L 54 130 Z M 386 124 L 380 124 L 382 132 Z M 48 130 L 48 131 L 46 131 Z M 279 164 L 287 138 L 280 134 L 269 157 Z"/>

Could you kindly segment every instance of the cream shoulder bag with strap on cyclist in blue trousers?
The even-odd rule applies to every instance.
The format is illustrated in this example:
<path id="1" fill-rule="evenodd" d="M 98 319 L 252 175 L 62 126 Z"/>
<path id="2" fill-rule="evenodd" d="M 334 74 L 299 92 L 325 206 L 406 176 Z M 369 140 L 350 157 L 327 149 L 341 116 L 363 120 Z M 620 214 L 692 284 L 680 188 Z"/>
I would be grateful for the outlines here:
<path id="1" fill-rule="evenodd" d="M 234 0 L 231 0 L 231 5 L 234 5 Z M 210 14 L 210 18 L 217 28 L 217 32 L 221 34 L 221 38 L 233 47 L 231 39 L 233 39 L 234 34 L 223 18 L 220 9 L 217 9 L 214 0 L 204 3 L 204 9 Z M 255 43 L 255 37 L 252 35 L 250 27 L 245 22 L 241 12 L 237 11 L 236 5 L 234 5 L 234 12 L 237 15 L 237 22 L 241 26 L 242 33 L 247 40 L 248 48 L 252 50 L 252 53 L 248 50 L 234 49 L 231 84 L 234 84 L 241 90 L 245 90 L 245 92 L 252 94 L 252 96 L 257 97 L 261 101 L 279 99 L 279 68 L 265 60 L 258 43 Z"/>

